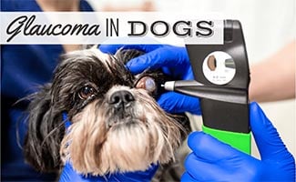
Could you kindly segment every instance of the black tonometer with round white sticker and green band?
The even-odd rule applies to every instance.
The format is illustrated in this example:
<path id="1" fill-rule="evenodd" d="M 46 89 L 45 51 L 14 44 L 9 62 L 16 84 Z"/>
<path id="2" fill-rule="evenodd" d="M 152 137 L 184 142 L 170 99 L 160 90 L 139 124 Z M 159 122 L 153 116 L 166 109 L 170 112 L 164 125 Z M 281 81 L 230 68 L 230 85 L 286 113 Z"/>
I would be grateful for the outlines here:
<path id="1" fill-rule="evenodd" d="M 250 70 L 238 20 L 224 20 L 223 45 L 186 45 L 195 80 L 165 89 L 200 98 L 203 131 L 250 154 Z"/>

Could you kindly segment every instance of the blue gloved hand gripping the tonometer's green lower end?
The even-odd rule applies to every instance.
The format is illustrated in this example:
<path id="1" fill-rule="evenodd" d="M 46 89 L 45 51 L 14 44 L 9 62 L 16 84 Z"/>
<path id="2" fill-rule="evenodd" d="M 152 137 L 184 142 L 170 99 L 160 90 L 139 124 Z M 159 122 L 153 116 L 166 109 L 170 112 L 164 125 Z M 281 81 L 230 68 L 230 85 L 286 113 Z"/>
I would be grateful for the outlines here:
<path id="1" fill-rule="evenodd" d="M 189 136 L 192 153 L 182 181 L 295 181 L 295 160 L 276 128 L 256 103 L 250 104 L 250 126 L 261 160 L 203 132 Z"/>

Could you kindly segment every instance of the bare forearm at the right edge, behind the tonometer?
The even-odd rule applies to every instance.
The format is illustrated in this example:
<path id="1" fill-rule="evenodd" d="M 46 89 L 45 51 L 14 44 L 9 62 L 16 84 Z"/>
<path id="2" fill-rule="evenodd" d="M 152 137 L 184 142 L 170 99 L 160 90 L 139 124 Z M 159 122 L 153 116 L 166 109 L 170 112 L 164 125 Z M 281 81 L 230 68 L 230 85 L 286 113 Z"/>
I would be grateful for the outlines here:
<path id="1" fill-rule="evenodd" d="M 250 67 L 250 100 L 270 102 L 295 97 L 295 41 Z"/>

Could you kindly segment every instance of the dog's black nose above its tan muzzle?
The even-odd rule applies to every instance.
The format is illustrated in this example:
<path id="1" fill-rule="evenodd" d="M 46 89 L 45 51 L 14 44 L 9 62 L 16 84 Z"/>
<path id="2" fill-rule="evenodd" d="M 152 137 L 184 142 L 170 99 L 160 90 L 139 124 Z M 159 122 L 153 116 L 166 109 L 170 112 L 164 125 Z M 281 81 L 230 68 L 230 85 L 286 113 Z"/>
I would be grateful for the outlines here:
<path id="1" fill-rule="evenodd" d="M 128 90 L 120 90 L 109 97 L 109 104 L 115 107 L 129 106 L 134 100 L 135 97 Z"/>

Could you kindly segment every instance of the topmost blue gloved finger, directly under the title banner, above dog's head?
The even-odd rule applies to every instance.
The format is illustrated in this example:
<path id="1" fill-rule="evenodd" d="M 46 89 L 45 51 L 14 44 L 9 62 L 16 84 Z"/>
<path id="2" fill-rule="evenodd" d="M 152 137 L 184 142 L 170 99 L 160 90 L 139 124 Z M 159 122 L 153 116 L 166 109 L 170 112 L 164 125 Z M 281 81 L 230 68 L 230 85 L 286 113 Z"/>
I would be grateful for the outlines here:
<path id="1" fill-rule="evenodd" d="M 118 49 L 137 49 L 139 51 L 143 51 L 145 53 L 148 53 L 150 51 L 153 51 L 157 49 L 158 47 L 161 47 L 163 45 L 99 45 L 99 50 L 103 53 L 108 53 L 114 55 Z"/>

